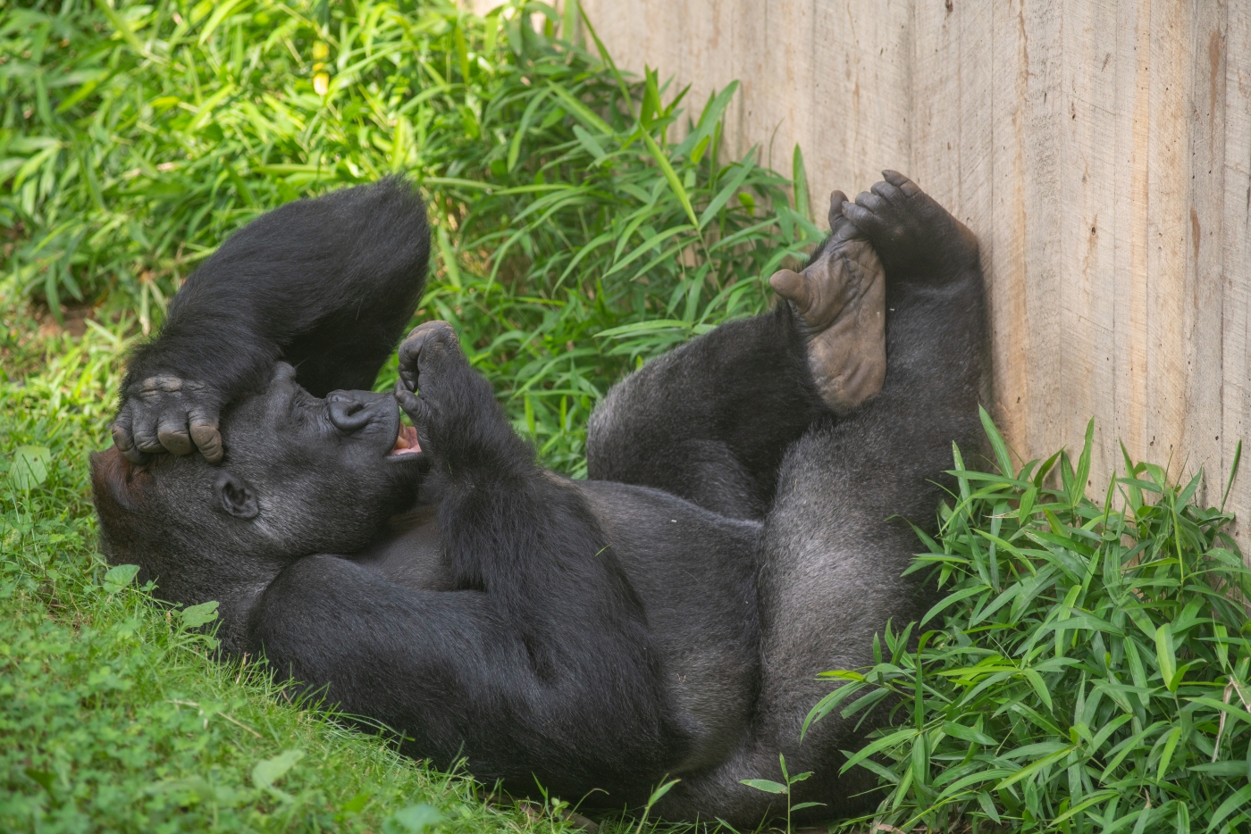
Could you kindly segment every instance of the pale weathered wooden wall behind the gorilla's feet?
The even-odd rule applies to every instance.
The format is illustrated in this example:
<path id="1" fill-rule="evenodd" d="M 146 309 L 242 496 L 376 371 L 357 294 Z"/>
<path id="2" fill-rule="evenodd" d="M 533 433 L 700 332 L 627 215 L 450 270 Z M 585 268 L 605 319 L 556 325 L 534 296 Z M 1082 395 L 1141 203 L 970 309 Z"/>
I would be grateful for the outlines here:
<path id="1" fill-rule="evenodd" d="M 1022 455 L 1093 416 L 1093 493 L 1123 441 L 1220 501 L 1251 441 L 1251 0 L 582 1 L 692 108 L 738 79 L 729 153 L 799 143 L 814 204 L 896 168 L 977 233 Z"/>

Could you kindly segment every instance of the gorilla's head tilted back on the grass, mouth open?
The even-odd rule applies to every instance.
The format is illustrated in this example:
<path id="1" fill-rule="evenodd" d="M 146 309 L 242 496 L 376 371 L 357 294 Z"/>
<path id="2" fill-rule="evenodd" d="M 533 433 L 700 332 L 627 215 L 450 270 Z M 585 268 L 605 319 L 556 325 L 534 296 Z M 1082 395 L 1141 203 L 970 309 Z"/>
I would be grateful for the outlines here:
<path id="1" fill-rule="evenodd" d="M 170 454 L 136 466 L 116 448 L 91 455 L 109 561 L 138 564 L 140 581 L 156 579 L 170 601 L 214 599 L 205 578 L 224 565 L 248 584 L 301 556 L 359 550 L 412 506 L 424 469 L 393 395 L 319 399 L 285 363 L 225 415 L 221 434 L 220 466 Z"/>

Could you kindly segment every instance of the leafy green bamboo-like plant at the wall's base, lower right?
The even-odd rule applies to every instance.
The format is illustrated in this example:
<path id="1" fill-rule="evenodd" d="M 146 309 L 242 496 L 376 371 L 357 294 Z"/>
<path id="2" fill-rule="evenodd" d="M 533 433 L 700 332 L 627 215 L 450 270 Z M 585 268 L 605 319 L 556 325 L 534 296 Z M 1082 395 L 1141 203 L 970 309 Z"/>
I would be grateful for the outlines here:
<path id="1" fill-rule="evenodd" d="M 941 533 L 918 531 L 912 570 L 946 596 L 874 639 L 873 666 L 826 673 L 842 685 L 807 721 L 891 709 L 844 770 L 878 775 L 874 819 L 896 830 L 1246 830 L 1251 571 L 1232 516 L 1196 503 L 1202 473 L 1175 484 L 1128 455 L 1100 508 L 1093 425 L 1076 469 L 1063 453 L 1013 469 L 982 420 L 1002 474 L 955 449 Z"/>

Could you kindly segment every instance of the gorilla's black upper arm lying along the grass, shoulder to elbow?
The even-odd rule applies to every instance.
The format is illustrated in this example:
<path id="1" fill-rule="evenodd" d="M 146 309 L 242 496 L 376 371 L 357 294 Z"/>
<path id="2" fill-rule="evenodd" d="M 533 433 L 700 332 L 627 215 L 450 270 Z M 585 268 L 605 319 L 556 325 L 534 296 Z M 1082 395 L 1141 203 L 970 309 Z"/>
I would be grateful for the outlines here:
<path id="1" fill-rule="evenodd" d="M 631 645 L 642 629 L 579 599 L 602 599 L 585 579 L 543 598 L 427 591 L 309 556 L 265 591 L 253 634 L 280 676 L 325 685 L 325 703 L 400 731 L 408 755 L 440 768 L 467 756 L 480 781 L 522 793 L 535 778 L 572 800 L 594 785 L 624 805 L 679 756 L 646 641 Z"/>

